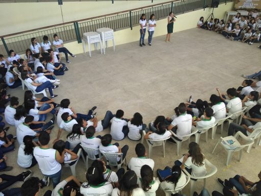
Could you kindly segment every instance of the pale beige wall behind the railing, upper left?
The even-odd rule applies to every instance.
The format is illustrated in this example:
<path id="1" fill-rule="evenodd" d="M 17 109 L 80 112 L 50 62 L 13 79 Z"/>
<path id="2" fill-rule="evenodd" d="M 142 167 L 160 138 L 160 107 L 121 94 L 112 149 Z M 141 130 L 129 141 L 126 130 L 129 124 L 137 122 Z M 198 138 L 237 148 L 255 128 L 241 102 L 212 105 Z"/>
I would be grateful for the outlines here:
<path id="1" fill-rule="evenodd" d="M 169 0 L 168 0 L 169 1 Z M 112 2 L 64 2 L 62 5 L 64 22 L 79 20 L 103 14 L 120 12 L 138 7 L 151 6 L 167 0 L 115 1 Z M 46 27 L 62 23 L 61 8 L 58 3 L 1 3 L 0 35 Z"/>

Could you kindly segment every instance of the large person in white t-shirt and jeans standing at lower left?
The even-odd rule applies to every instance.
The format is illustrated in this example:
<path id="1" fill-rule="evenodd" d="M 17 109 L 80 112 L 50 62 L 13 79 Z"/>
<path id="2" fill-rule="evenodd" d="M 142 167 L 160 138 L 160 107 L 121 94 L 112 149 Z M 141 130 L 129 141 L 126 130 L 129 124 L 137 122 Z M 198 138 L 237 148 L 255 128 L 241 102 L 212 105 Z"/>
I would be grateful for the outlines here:
<path id="1" fill-rule="evenodd" d="M 57 150 L 50 149 L 48 144 L 49 141 L 49 134 L 42 131 L 39 135 L 40 146 L 34 148 L 34 157 L 38 162 L 42 174 L 53 181 L 53 187 L 55 188 L 61 179 L 62 167 L 60 163 L 64 162 L 65 151 L 60 155 Z M 48 180 L 46 178 L 42 181 L 47 185 Z"/>

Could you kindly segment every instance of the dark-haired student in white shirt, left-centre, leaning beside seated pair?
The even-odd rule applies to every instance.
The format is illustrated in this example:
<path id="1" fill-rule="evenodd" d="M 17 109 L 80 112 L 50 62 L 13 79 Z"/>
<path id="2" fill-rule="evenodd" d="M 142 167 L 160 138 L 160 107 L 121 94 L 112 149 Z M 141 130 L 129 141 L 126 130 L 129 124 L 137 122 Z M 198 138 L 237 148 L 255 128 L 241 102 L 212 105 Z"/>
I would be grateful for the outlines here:
<path id="1" fill-rule="evenodd" d="M 60 139 L 63 130 L 71 133 L 73 125 L 78 124 L 78 122 L 75 119 L 72 119 L 68 112 L 63 113 L 61 117 L 63 121 L 59 125 L 57 140 Z"/>

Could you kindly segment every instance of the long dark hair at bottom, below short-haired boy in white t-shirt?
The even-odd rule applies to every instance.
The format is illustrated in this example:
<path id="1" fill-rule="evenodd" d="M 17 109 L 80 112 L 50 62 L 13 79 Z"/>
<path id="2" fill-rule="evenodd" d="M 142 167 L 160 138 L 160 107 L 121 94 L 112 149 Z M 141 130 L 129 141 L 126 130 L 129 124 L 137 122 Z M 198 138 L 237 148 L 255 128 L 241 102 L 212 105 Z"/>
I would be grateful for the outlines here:
<path id="1" fill-rule="evenodd" d="M 150 183 L 153 181 L 153 171 L 150 166 L 143 165 L 141 167 L 141 188 L 147 192 L 151 189 Z"/>

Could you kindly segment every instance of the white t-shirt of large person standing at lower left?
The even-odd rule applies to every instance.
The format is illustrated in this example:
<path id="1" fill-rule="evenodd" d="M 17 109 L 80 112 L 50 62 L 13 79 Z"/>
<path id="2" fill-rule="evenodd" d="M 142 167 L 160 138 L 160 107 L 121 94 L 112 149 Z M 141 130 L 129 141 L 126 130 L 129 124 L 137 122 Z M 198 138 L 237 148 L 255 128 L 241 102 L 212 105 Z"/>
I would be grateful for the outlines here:
<path id="1" fill-rule="evenodd" d="M 53 175 L 61 170 L 61 164 L 56 160 L 55 149 L 41 149 L 39 146 L 34 148 L 34 157 L 38 162 L 43 175 Z"/>

